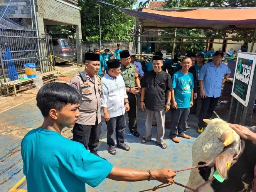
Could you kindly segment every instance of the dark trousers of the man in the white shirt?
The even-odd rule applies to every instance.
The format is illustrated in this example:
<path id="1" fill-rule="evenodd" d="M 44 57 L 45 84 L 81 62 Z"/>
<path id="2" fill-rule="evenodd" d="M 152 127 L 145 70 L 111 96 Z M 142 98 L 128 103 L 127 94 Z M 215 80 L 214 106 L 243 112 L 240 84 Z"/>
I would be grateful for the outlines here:
<path id="1" fill-rule="evenodd" d="M 120 115 L 117 117 L 111 117 L 109 121 L 106 121 L 108 136 L 107 144 L 109 147 L 115 147 L 115 130 L 116 130 L 116 144 L 117 146 L 123 145 L 125 143 L 125 128 L 126 121 L 125 115 Z"/>

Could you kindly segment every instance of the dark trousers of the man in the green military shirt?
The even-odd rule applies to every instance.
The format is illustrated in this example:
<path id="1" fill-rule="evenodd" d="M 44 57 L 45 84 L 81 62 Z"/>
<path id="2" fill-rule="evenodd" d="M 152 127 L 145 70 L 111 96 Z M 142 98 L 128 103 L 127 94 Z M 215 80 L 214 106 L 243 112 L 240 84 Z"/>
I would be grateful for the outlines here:
<path id="1" fill-rule="evenodd" d="M 128 96 L 128 101 L 130 105 L 130 110 L 128 113 L 129 118 L 129 129 L 136 131 L 137 130 L 137 122 L 136 122 L 136 116 L 137 116 L 137 98 L 136 95 L 133 93 L 126 92 Z"/>

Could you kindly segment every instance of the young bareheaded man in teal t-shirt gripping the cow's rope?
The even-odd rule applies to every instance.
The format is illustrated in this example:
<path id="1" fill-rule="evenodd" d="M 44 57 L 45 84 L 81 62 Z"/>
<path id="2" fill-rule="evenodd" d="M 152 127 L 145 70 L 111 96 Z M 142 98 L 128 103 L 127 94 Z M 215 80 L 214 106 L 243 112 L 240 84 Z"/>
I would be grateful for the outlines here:
<path id="1" fill-rule="evenodd" d="M 83 144 L 61 135 L 81 115 L 79 92 L 65 83 L 47 83 L 37 94 L 44 116 L 42 126 L 29 131 L 21 143 L 23 173 L 31 192 L 85 192 L 85 184 L 98 186 L 105 178 L 118 181 L 158 180 L 173 183 L 169 168 L 142 171 L 113 167 L 86 150 Z"/>

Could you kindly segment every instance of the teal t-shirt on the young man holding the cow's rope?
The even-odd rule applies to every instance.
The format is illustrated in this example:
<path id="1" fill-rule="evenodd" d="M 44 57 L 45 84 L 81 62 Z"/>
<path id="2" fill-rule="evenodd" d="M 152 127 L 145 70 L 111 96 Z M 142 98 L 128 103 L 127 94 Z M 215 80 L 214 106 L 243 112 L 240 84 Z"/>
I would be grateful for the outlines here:
<path id="1" fill-rule="evenodd" d="M 83 144 L 41 127 L 25 135 L 21 155 L 28 191 L 85 192 L 85 184 L 96 187 L 113 168 Z"/>

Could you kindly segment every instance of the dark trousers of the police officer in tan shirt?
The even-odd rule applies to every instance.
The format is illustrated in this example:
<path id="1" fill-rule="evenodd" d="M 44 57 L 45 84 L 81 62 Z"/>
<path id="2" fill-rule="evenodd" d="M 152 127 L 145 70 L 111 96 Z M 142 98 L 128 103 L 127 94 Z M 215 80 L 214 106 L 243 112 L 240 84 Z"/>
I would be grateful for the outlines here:
<path id="1" fill-rule="evenodd" d="M 76 123 L 73 128 L 73 141 L 82 143 L 91 153 L 98 151 L 101 123 L 96 120 L 95 125 L 81 125 Z"/>

